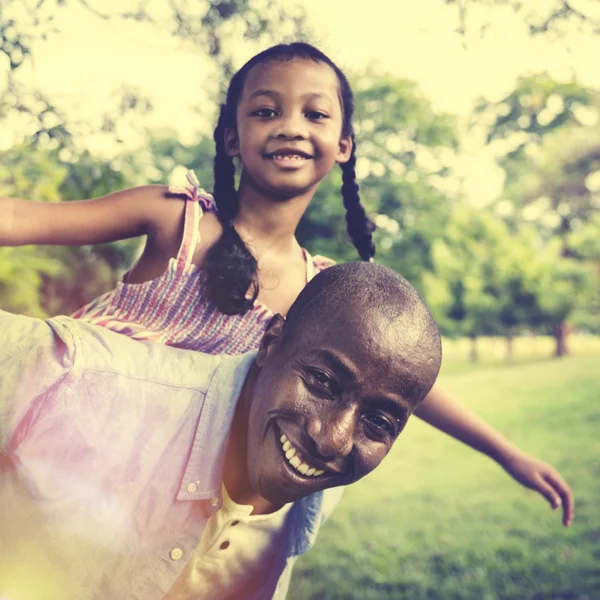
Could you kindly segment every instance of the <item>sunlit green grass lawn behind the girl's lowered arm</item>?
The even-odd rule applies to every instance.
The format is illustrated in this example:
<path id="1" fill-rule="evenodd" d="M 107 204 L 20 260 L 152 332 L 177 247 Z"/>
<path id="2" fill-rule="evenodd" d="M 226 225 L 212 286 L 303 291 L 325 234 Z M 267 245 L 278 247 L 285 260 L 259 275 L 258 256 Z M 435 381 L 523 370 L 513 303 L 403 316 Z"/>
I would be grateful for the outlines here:
<path id="1" fill-rule="evenodd" d="M 510 366 L 484 343 L 476 368 L 468 345 L 447 344 L 440 383 L 561 471 L 576 496 L 570 529 L 488 458 L 411 419 L 383 465 L 348 488 L 288 598 L 599 600 L 600 340 L 573 339 L 561 360 L 544 343 L 516 344 Z"/>

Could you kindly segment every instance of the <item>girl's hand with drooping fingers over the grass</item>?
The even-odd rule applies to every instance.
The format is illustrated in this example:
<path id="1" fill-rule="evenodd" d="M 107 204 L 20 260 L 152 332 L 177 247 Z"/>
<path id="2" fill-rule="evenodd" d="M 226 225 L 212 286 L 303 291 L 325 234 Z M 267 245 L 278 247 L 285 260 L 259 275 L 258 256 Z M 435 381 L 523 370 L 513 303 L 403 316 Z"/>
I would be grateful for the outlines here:
<path id="1" fill-rule="evenodd" d="M 571 525 L 575 506 L 573 492 L 554 467 L 520 451 L 503 461 L 502 466 L 519 483 L 544 496 L 553 510 L 562 505 L 563 525 Z"/>

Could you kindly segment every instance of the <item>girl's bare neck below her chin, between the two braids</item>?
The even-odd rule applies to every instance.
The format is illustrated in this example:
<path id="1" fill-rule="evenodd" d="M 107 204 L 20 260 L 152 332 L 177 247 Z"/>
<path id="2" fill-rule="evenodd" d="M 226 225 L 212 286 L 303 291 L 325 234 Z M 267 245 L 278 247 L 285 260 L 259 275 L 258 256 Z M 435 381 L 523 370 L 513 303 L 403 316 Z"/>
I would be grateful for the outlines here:
<path id="1" fill-rule="evenodd" d="M 250 185 L 240 184 L 239 210 L 234 224 L 242 237 L 262 250 L 285 252 L 297 246 L 296 228 L 315 190 L 280 200 L 267 198 Z"/>

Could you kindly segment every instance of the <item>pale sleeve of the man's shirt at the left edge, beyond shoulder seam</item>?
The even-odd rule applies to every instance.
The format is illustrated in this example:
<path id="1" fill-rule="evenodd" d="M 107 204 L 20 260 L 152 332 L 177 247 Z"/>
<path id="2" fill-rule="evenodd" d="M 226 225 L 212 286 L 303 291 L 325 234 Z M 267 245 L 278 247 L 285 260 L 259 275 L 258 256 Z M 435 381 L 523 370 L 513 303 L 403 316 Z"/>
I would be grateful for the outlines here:
<path id="1" fill-rule="evenodd" d="M 6 455 L 69 374 L 74 347 L 48 322 L 4 311 L 0 332 L 0 455 Z"/>

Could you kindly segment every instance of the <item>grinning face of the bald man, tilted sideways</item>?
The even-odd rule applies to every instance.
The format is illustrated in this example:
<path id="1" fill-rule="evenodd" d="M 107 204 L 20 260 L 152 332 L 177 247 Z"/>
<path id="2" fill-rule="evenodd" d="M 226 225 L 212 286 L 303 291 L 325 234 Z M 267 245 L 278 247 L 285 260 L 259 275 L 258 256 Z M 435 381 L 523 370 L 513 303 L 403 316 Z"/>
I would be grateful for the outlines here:
<path id="1" fill-rule="evenodd" d="M 369 312 L 369 311 L 367 311 Z M 417 403 L 415 369 L 433 383 L 437 361 L 397 325 L 344 313 L 263 344 L 251 395 L 247 469 L 273 504 L 359 480 L 390 451 Z M 267 334 L 268 336 L 268 334 Z M 407 339 L 404 339 L 407 338 Z"/>

